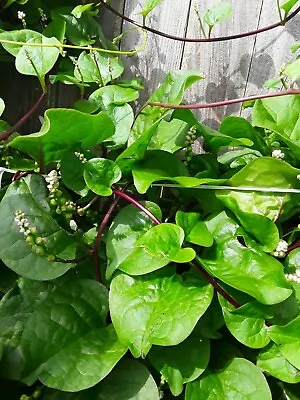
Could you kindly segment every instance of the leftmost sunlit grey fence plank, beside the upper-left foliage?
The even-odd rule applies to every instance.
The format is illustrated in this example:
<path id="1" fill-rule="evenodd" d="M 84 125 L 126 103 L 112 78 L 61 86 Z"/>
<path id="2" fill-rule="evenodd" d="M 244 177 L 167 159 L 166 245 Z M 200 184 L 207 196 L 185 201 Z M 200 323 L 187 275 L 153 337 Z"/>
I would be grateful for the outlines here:
<path id="1" fill-rule="evenodd" d="M 144 4 L 143 0 L 127 0 L 125 14 L 141 22 L 138 14 Z M 147 21 L 151 27 L 174 35 L 184 36 L 186 32 L 190 0 L 164 0 Z M 124 24 L 123 31 L 131 28 Z M 140 42 L 138 32 L 128 34 L 122 42 L 123 49 L 137 47 Z M 180 68 L 183 43 L 165 39 L 149 33 L 146 49 L 137 56 L 128 58 L 127 76 L 138 76 L 144 84 L 145 90 L 141 102 L 163 82 L 165 74 L 170 70 Z"/>

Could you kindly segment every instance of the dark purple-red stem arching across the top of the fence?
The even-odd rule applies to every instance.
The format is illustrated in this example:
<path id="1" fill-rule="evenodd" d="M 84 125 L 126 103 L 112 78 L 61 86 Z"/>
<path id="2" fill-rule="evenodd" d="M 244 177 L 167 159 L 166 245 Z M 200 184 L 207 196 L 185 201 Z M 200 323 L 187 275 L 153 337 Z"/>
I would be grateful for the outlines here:
<path id="1" fill-rule="evenodd" d="M 211 43 L 211 42 L 223 42 L 226 40 L 233 40 L 233 39 L 241 39 L 243 37 L 247 36 L 252 36 L 256 35 L 258 33 L 266 32 L 274 28 L 278 28 L 279 26 L 283 26 L 286 22 L 290 21 L 292 18 L 295 17 L 300 11 L 300 7 L 298 7 L 294 12 L 292 12 L 284 21 L 284 24 L 282 21 L 276 22 L 275 24 L 265 26 L 264 28 L 256 29 L 254 31 L 249 31 L 249 32 L 244 32 L 244 33 L 238 33 L 236 35 L 231 35 L 231 36 L 224 36 L 224 37 L 215 37 L 215 38 L 186 38 L 186 37 L 178 37 L 178 36 L 173 36 L 165 32 L 158 31 L 157 29 L 153 29 L 150 26 L 142 25 L 138 23 L 137 21 L 126 17 L 126 15 L 121 14 L 119 11 L 111 7 L 109 4 L 105 3 L 103 0 L 99 0 L 99 3 L 101 3 L 104 7 L 106 7 L 109 11 L 111 11 L 113 14 L 117 15 L 118 17 L 122 18 L 124 21 L 129 22 L 130 24 L 133 24 L 137 26 L 138 28 L 142 28 L 145 31 L 154 33 L 158 36 L 162 36 L 167 39 L 171 40 L 177 40 L 180 42 L 191 42 L 191 43 Z"/>

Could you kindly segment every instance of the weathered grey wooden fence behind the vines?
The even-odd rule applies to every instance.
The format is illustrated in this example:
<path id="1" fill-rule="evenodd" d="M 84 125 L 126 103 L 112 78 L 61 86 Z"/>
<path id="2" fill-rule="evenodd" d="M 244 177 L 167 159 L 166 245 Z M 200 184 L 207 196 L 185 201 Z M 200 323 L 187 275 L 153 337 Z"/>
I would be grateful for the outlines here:
<path id="1" fill-rule="evenodd" d="M 111 6 L 121 13 L 141 21 L 139 11 L 145 0 L 112 0 Z M 164 0 L 148 20 L 155 29 L 177 36 L 199 37 L 199 23 L 194 12 L 196 2 L 204 12 L 217 0 Z M 230 1 L 230 0 L 227 0 Z M 213 31 L 214 36 L 226 36 L 246 32 L 279 20 L 276 0 L 231 0 L 233 17 L 221 23 Z M 101 10 L 105 33 L 114 37 L 130 28 L 130 24 Z M 127 77 L 138 76 L 145 84 L 141 95 L 143 103 L 164 80 L 166 72 L 184 68 L 202 72 L 206 79 L 187 91 L 188 102 L 212 102 L 267 91 L 264 82 L 276 75 L 284 61 L 290 57 L 290 46 L 300 40 L 300 15 L 296 15 L 285 27 L 279 27 L 256 36 L 216 43 L 182 43 L 149 33 L 146 49 L 136 56 L 125 58 Z M 140 44 L 137 31 L 125 36 L 123 49 L 133 49 Z M 7 68 L 0 72 L 7 74 Z M 32 78 L 16 75 L 12 68 L 10 77 L 1 80 L 1 92 L 7 105 L 5 117 L 16 122 L 39 96 L 40 88 Z M 3 76 L 3 75 L 2 75 Z M 7 83 L 6 83 L 7 82 Z M 33 83 L 34 82 L 34 83 Z M 51 89 L 45 108 L 71 107 L 76 88 L 56 85 Z M 77 92 L 76 92 L 77 93 Z M 2 95 L 3 97 L 3 95 Z M 40 112 L 42 113 L 42 111 Z M 200 112 L 202 121 L 216 126 L 229 114 L 238 115 L 239 105 Z M 37 121 L 32 120 L 25 130 L 34 131 Z"/>

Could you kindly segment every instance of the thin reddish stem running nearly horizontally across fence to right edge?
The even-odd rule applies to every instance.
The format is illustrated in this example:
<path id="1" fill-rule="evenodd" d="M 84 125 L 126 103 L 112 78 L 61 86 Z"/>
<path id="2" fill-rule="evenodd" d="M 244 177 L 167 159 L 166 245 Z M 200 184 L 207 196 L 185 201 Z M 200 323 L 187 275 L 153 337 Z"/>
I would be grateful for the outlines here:
<path id="1" fill-rule="evenodd" d="M 161 108 L 171 108 L 171 109 L 199 110 L 201 108 L 224 107 L 224 106 L 228 106 L 228 105 L 231 105 L 231 104 L 244 103 L 245 101 L 268 99 L 268 98 L 271 98 L 271 97 L 281 97 L 281 96 L 288 96 L 288 95 L 294 95 L 294 94 L 300 94 L 300 89 L 288 89 L 288 90 L 284 90 L 282 92 L 262 94 L 262 95 L 257 95 L 257 96 L 242 97 L 242 98 L 239 98 L 239 99 L 218 101 L 216 103 L 167 104 L 167 103 L 159 103 L 159 102 L 155 102 L 155 101 L 149 101 L 149 103 L 146 103 L 146 105 L 156 106 L 156 107 L 161 107 Z"/>

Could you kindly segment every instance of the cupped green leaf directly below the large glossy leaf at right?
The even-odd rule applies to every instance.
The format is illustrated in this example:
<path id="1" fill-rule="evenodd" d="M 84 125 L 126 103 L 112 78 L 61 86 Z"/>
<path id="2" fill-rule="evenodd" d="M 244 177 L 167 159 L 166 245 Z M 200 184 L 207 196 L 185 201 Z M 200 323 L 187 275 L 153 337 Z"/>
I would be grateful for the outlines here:
<path id="1" fill-rule="evenodd" d="M 260 349 L 270 342 L 265 324 L 267 309 L 257 302 L 244 304 L 235 309 L 223 297 L 219 297 L 225 324 L 230 333 L 242 344 Z"/>

